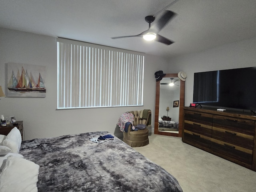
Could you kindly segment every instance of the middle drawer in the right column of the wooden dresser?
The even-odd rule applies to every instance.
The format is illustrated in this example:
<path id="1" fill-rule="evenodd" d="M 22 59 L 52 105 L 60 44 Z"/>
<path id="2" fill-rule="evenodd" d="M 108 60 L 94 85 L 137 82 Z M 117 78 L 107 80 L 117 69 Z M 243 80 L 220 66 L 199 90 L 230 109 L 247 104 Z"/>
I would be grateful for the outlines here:
<path id="1" fill-rule="evenodd" d="M 253 135 L 212 127 L 212 138 L 253 150 Z"/>

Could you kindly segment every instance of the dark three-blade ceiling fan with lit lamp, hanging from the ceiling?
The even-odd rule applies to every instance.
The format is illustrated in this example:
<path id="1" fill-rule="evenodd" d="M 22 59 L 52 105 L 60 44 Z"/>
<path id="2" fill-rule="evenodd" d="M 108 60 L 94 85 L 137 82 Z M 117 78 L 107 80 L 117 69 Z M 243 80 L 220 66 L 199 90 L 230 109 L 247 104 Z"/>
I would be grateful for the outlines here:
<path id="1" fill-rule="evenodd" d="M 157 41 L 166 45 L 170 45 L 174 43 L 173 41 L 159 35 L 158 33 L 166 26 L 166 24 L 176 15 L 176 13 L 170 10 L 164 10 L 162 15 L 155 20 L 155 17 L 152 15 L 146 16 L 145 20 L 148 23 L 148 30 L 143 31 L 138 35 L 130 35 L 130 36 L 119 36 L 119 37 L 112 37 L 112 39 L 118 38 L 126 38 L 126 37 L 142 37 L 145 40 L 149 41 Z M 154 24 L 151 23 L 154 22 Z"/>

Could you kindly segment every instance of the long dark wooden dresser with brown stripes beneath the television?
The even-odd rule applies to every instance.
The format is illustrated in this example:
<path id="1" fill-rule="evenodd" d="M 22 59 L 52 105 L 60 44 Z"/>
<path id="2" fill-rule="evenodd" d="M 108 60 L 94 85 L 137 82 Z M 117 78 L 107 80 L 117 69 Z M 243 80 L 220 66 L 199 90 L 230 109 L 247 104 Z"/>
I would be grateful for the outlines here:
<path id="1" fill-rule="evenodd" d="M 256 171 L 256 116 L 184 107 L 182 141 Z"/>

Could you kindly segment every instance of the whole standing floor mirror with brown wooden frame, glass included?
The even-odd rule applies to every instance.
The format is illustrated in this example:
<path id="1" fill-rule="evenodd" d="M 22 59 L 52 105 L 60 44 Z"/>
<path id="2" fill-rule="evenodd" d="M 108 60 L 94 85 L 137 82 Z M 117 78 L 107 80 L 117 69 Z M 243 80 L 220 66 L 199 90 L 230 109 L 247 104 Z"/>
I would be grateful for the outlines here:
<path id="1" fill-rule="evenodd" d="M 166 74 L 156 82 L 154 134 L 182 137 L 185 82 Z"/>

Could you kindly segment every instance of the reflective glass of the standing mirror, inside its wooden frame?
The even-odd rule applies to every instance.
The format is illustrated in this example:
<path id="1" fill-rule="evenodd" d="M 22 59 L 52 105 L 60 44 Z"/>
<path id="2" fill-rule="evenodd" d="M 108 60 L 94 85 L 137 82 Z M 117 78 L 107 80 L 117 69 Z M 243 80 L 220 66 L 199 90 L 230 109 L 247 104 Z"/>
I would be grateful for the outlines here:
<path id="1" fill-rule="evenodd" d="M 179 133 L 179 102 L 180 79 L 178 77 L 162 78 L 159 96 L 159 131 Z"/>

